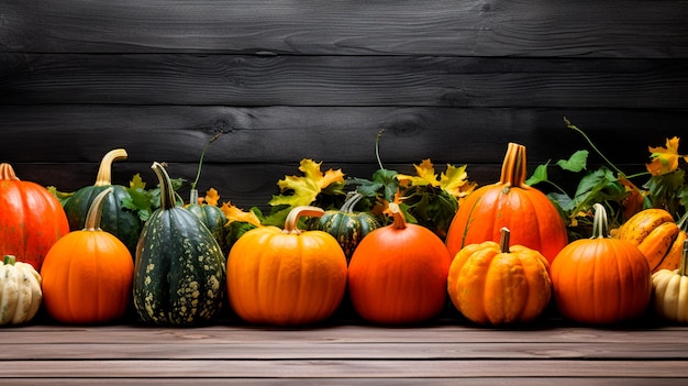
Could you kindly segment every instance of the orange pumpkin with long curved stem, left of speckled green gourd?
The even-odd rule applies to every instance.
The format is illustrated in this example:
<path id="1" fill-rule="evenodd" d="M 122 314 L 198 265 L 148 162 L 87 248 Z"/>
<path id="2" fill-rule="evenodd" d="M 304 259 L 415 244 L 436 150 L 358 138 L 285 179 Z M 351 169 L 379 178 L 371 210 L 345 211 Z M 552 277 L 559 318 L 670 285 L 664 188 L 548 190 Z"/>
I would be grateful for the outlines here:
<path id="1" fill-rule="evenodd" d="M 43 302 L 55 320 L 102 323 L 122 317 L 131 301 L 134 262 L 129 249 L 100 229 L 102 203 L 112 187 L 100 192 L 85 228 L 59 239 L 41 269 Z"/>

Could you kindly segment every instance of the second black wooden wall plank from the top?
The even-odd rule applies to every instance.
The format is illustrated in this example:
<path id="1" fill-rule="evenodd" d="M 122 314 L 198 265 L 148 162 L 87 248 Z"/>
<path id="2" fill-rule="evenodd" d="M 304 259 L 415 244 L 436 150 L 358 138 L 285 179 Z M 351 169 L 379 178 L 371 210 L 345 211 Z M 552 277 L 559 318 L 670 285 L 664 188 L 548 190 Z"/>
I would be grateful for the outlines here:
<path id="1" fill-rule="evenodd" d="M 688 59 L 2 54 L 0 103 L 683 109 Z"/>

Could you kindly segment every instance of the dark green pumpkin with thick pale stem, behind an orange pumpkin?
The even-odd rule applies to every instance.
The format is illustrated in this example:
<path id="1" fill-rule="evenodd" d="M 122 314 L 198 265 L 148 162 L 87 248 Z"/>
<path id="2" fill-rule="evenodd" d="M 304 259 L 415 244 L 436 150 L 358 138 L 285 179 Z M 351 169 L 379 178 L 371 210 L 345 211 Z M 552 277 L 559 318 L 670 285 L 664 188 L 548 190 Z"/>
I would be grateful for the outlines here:
<path id="1" fill-rule="evenodd" d="M 91 202 L 101 191 L 112 187 L 112 194 L 108 195 L 102 203 L 102 216 L 100 228 L 114 234 L 126 247 L 132 256 L 136 252 L 136 243 L 143 223 L 135 211 L 126 209 L 123 200 L 131 199 L 126 188 L 120 185 L 112 185 L 112 163 L 126 158 L 126 151 L 115 148 L 108 152 L 100 162 L 96 184 L 84 187 L 64 202 L 63 207 L 69 221 L 69 230 L 80 231 L 86 223 L 86 214 Z"/>

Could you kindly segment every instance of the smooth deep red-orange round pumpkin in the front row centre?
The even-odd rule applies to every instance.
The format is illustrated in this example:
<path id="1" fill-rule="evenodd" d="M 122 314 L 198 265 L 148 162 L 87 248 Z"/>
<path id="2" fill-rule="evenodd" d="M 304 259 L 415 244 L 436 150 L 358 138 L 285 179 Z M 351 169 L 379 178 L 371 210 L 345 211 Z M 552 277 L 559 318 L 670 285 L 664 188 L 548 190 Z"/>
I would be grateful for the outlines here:
<path id="1" fill-rule="evenodd" d="M 421 322 L 446 305 L 452 258 L 436 234 L 407 223 L 398 205 L 389 208 L 393 223 L 368 233 L 354 251 L 348 266 L 351 301 L 371 322 Z"/>

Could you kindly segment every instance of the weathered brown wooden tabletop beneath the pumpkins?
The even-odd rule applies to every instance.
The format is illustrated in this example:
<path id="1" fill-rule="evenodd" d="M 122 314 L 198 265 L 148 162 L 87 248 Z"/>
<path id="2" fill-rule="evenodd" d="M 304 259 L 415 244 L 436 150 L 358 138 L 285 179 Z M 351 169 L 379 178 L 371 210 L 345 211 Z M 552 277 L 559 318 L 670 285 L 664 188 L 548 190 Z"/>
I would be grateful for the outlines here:
<path id="1" fill-rule="evenodd" d="M 7 385 L 686 385 L 688 327 L 644 318 L 612 327 L 559 318 L 485 328 L 336 319 L 304 328 L 228 320 L 0 329 Z"/>

